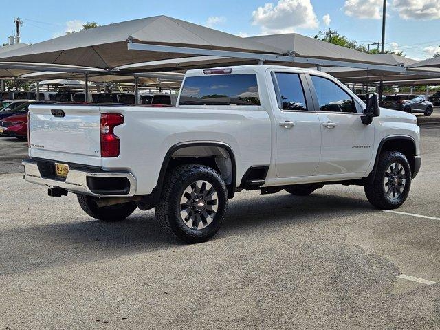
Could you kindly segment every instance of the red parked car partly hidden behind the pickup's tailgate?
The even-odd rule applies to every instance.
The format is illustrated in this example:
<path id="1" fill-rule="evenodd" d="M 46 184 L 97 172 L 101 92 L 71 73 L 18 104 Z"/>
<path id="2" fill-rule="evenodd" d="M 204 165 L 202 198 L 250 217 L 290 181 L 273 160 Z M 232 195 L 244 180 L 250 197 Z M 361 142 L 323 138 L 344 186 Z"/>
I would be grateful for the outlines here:
<path id="1" fill-rule="evenodd" d="M 14 109 L 14 114 L 0 120 L 0 136 L 28 138 L 28 111 L 30 104 L 52 104 L 53 102 L 29 101 Z"/>

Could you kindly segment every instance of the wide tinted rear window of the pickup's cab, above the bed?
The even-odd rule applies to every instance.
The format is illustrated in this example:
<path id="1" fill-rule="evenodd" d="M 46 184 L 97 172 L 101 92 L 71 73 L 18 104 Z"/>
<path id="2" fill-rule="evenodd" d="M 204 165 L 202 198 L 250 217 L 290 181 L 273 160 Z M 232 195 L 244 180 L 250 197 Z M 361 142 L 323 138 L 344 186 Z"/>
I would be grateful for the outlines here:
<path id="1" fill-rule="evenodd" d="M 188 77 L 180 105 L 260 105 L 256 74 L 213 74 Z"/>

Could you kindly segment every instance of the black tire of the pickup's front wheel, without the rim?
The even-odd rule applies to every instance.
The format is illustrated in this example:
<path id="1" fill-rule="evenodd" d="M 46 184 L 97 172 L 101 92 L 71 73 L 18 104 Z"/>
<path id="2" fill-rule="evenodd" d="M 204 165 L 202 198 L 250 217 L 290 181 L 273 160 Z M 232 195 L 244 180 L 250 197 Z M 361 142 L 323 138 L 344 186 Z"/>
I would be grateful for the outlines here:
<path id="1" fill-rule="evenodd" d="M 386 170 L 393 163 L 400 164 L 405 170 L 405 186 L 401 195 L 397 199 L 391 199 L 388 197 L 385 191 L 386 188 L 384 187 Z M 404 201 L 406 201 L 406 197 L 408 197 L 408 193 L 410 192 L 410 187 L 411 168 L 408 159 L 406 159 L 404 154 L 399 153 L 398 151 L 385 151 L 380 155 L 375 177 L 373 180 L 365 184 L 364 190 L 366 198 L 371 204 L 373 204 L 373 206 L 380 208 L 381 210 L 392 210 L 394 208 L 399 208 Z"/>

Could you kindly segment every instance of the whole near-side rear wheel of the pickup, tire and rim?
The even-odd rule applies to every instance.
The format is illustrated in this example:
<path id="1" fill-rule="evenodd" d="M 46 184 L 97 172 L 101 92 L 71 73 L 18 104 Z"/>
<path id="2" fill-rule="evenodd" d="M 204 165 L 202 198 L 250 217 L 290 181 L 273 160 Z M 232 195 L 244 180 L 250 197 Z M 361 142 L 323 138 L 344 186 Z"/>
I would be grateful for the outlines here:
<path id="1" fill-rule="evenodd" d="M 185 243 L 208 241 L 228 208 L 225 182 L 203 165 L 175 168 L 167 177 L 155 212 L 159 225 Z"/>

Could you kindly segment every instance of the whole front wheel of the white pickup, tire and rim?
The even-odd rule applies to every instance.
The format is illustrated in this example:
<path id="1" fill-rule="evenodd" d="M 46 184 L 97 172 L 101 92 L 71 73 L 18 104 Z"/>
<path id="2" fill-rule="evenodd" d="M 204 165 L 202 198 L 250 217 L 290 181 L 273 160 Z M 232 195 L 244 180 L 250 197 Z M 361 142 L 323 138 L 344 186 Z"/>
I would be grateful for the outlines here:
<path id="1" fill-rule="evenodd" d="M 382 210 L 399 208 L 411 186 L 411 168 L 408 159 L 397 151 L 380 155 L 373 181 L 364 186 L 366 198 Z"/>

